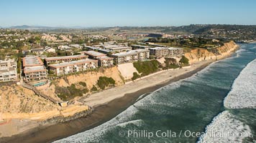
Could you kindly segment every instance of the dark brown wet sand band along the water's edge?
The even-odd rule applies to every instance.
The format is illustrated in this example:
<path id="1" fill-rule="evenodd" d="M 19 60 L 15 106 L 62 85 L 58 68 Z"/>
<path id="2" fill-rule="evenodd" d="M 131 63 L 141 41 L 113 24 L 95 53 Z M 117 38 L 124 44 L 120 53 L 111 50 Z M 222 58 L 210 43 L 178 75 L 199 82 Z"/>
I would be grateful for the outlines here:
<path id="1" fill-rule="evenodd" d="M 97 127 L 100 124 L 109 121 L 113 117 L 116 117 L 117 114 L 123 112 L 129 106 L 137 102 L 137 99 L 142 94 L 145 94 L 146 96 L 147 94 L 150 94 L 151 92 L 154 92 L 155 90 L 164 87 L 165 85 L 168 85 L 172 82 L 177 82 L 180 79 L 186 79 L 187 77 L 191 77 L 193 74 L 196 74 L 196 72 L 204 69 L 210 63 L 211 61 L 206 62 L 205 64 L 202 64 L 200 67 L 194 69 L 193 71 L 189 71 L 186 74 L 182 74 L 170 80 L 167 79 L 167 81 L 160 84 L 140 89 L 137 92 L 133 92 L 130 94 L 125 94 L 124 97 L 114 99 L 107 104 L 102 104 L 101 106 L 96 107 L 93 114 L 90 114 L 87 117 L 75 119 L 70 122 L 65 122 L 61 124 L 41 126 L 35 129 L 30 129 L 29 131 L 22 134 L 2 138 L 0 139 L 0 142 L 52 142 L 58 139 L 69 137 L 70 135 L 77 134 L 79 132 L 84 132 L 88 129 L 92 129 L 93 127 Z"/>

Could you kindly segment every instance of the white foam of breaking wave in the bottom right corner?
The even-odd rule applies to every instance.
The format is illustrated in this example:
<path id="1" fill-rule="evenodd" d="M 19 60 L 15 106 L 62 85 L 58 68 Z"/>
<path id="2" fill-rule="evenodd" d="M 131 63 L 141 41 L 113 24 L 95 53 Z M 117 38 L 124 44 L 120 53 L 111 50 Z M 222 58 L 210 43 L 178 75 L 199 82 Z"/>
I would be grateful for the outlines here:
<path id="1" fill-rule="evenodd" d="M 245 137 L 252 137 L 250 127 L 224 111 L 214 117 L 204 134 L 201 134 L 198 143 L 242 142 Z"/>

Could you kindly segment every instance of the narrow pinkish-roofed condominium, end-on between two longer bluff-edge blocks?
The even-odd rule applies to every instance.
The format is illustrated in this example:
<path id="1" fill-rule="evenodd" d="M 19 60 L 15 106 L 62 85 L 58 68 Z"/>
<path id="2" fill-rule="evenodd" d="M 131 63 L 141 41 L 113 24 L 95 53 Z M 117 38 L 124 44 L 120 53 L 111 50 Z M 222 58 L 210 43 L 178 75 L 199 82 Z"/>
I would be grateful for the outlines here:
<path id="1" fill-rule="evenodd" d="M 97 59 L 99 66 L 113 66 L 113 58 L 106 56 L 106 54 L 97 51 L 81 51 L 81 54 L 86 54 L 91 59 Z"/>

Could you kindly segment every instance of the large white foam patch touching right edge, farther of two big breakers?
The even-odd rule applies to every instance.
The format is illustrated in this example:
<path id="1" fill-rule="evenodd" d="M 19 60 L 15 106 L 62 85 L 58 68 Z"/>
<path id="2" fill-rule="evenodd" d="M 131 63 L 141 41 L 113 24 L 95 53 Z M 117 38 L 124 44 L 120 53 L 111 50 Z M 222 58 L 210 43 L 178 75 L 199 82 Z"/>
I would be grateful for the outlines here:
<path id="1" fill-rule="evenodd" d="M 224 107 L 256 108 L 256 59 L 247 64 L 234 80 L 232 90 L 224 99 Z"/>

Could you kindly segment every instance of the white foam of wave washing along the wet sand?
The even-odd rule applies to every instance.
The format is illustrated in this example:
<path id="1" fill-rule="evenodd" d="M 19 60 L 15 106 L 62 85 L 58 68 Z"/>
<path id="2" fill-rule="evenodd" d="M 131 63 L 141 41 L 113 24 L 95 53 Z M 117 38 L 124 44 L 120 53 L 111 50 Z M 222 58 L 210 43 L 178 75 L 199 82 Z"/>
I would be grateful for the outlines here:
<path id="1" fill-rule="evenodd" d="M 139 101 L 136 102 L 134 105 L 130 106 L 124 112 L 118 114 L 113 119 L 109 120 L 109 122 L 105 122 L 104 124 L 101 124 L 98 127 L 95 127 L 93 129 L 89 129 L 86 132 L 81 132 L 78 134 L 74 134 L 73 136 L 60 139 L 55 142 L 100 142 L 101 137 L 106 134 L 106 132 L 111 131 L 115 127 L 125 127 L 127 124 L 134 124 L 135 126 L 141 126 L 143 124 L 142 119 L 132 119 L 134 117 L 134 114 L 139 112 L 137 107 L 147 105 L 147 101 L 151 101 L 153 103 L 153 97 L 157 96 L 157 92 L 160 92 L 160 90 L 165 89 L 175 89 L 180 87 L 180 82 L 174 82 L 172 84 L 169 84 L 165 87 L 161 87 L 160 89 L 157 89 L 155 92 L 152 92 L 152 94 L 147 95 L 147 97 L 142 98 L 143 95 L 139 97 Z"/>

